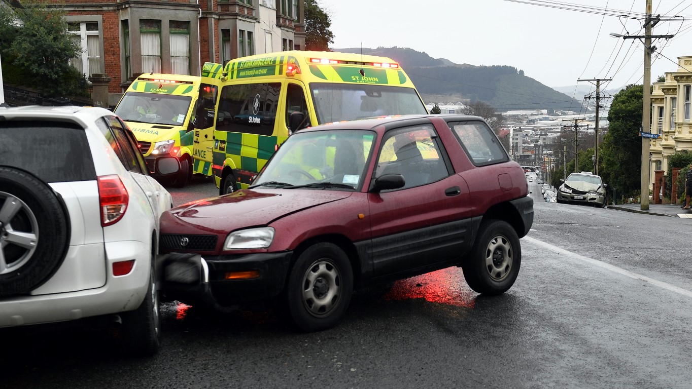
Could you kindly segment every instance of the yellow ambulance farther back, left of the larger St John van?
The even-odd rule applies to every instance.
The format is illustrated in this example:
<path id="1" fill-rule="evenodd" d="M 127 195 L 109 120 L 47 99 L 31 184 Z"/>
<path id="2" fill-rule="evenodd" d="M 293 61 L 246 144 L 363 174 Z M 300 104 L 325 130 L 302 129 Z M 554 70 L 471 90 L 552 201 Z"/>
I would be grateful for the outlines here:
<path id="1" fill-rule="evenodd" d="M 211 175 L 214 106 L 221 65 L 205 64 L 202 76 L 145 73 L 137 77 L 113 111 L 137 138 L 149 173 L 156 159 L 174 156 L 181 169 L 170 183 L 184 187 L 192 173 Z"/>

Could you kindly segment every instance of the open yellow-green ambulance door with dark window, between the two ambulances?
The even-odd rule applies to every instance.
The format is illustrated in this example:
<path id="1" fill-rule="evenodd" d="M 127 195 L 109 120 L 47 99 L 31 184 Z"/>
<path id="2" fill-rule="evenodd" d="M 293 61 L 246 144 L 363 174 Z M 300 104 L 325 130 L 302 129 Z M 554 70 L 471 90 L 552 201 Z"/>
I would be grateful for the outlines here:
<path id="1" fill-rule="evenodd" d="M 214 150 L 214 129 L 216 124 L 216 101 L 219 87 L 213 84 L 200 84 L 199 97 L 194 107 L 194 149 L 192 151 L 193 171 L 203 175 L 212 174 L 212 152 Z"/>

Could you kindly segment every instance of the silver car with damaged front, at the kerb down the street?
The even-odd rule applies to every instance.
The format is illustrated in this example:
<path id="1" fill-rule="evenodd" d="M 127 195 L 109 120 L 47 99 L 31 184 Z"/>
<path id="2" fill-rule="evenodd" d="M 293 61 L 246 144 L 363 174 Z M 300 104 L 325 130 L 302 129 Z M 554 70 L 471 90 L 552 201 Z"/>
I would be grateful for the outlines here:
<path id="1" fill-rule="evenodd" d="M 605 188 L 600 175 L 571 173 L 558 188 L 557 202 L 605 207 Z"/>

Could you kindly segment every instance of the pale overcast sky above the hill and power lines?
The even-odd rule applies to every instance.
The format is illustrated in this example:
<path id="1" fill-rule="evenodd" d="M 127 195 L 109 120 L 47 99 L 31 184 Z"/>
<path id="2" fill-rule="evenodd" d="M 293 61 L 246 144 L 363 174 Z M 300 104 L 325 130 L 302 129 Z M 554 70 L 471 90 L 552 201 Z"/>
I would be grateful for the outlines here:
<path id="1" fill-rule="evenodd" d="M 576 85 L 580 78 L 612 78 L 607 89 L 643 82 L 644 44 L 609 34 L 644 35 L 640 20 L 646 0 L 319 1 L 331 16 L 331 48 L 408 47 L 457 64 L 514 66 L 550 87 Z M 562 3 L 570 10 L 538 3 Z M 583 7 L 597 13 L 572 10 Z M 630 18 L 604 17 L 605 8 Z M 654 43 L 675 61 L 653 56 L 655 82 L 658 75 L 677 70 L 677 57 L 692 55 L 692 0 L 653 0 L 652 10 L 662 19 L 684 16 L 653 28 L 653 35 L 677 32 L 667 43 Z"/>

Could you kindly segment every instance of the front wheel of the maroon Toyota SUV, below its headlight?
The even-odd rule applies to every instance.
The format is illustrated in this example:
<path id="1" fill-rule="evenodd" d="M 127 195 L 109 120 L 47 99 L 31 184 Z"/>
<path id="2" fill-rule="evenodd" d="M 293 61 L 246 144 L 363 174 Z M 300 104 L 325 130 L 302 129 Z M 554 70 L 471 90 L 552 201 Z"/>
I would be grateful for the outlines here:
<path id="1" fill-rule="evenodd" d="M 349 258 L 332 243 L 308 247 L 295 261 L 286 287 L 291 319 L 305 332 L 334 327 L 353 293 Z"/>

